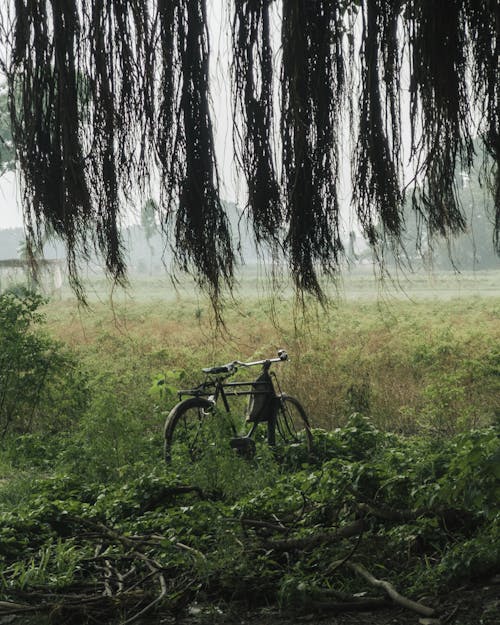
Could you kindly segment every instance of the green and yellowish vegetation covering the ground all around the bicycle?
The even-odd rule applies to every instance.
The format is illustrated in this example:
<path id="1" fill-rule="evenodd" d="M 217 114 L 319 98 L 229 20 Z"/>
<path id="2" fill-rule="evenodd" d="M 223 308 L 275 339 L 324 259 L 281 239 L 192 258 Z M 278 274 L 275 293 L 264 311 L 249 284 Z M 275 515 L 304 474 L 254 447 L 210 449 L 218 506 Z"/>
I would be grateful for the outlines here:
<path id="1" fill-rule="evenodd" d="M 199 305 L 90 315 L 66 302 L 45 307 L 43 321 L 33 296 L 1 304 L 24 334 L 64 343 L 85 374 L 71 418 L 41 395 L 46 416 L 3 439 L 4 617 L 240 622 L 249 610 L 264 622 L 366 622 L 368 611 L 372 622 L 498 622 L 497 299 L 394 304 L 391 323 L 374 303 L 345 304 L 330 327 L 324 317 L 302 329 L 285 316 L 279 328 L 250 324 L 263 313 L 247 302 L 232 326 L 240 349 L 289 345 L 282 382 L 308 408 L 313 453 L 292 446 L 278 461 L 258 445 L 246 460 L 220 442 L 168 466 L 161 428 L 175 389 L 235 349 L 209 340 Z M 413 393 L 393 392 L 412 375 Z"/>

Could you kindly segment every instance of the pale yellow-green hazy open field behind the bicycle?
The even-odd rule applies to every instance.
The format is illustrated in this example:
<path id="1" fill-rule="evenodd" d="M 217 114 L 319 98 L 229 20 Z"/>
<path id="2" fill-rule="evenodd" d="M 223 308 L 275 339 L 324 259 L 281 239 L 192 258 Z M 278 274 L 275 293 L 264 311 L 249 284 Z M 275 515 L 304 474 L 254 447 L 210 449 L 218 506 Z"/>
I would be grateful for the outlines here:
<path id="1" fill-rule="evenodd" d="M 157 374 L 185 387 L 203 366 L 284 347 L 283 387 L 318 426 L 335 427 L 358 411 L 384 428 L 446 434 L 499 412 L 500 272 L 397 283 L 358 271 L 332 289 L 326 310 L 310 302 L 305 311 L 288 285 L 273 291 L 262 277 L 244 273 L 224 328 L 191 283 L 174 289 L 157 277 L 132 279 L 112 300 L 106 282 L 93 280 L 88 309 L 66 296 L 46 307 L 48 329 L 86 366 L 126 380 L 135 400 L 147 397 Z"/>

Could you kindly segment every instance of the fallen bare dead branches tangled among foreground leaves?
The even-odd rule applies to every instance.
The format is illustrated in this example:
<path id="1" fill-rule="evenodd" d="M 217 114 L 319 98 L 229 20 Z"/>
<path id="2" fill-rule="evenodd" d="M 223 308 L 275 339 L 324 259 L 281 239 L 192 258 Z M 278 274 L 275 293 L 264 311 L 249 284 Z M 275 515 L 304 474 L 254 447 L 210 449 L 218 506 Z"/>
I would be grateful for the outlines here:
<path id="1" fill-rule="evenodd" d="M 203 495 L 199 489 L 188 487 L 179 489 L 179 493 L 193 490 L 197 497 Z M 301 514 L 303 512 L 301 510 Z M 370 568 L 383 563 L 377 561 L 373 550 L 371 561 L 367 561 L 369 530 L 374 522 L 401 524 L 419 516 L 446 519 L 453 515 L 457 515 L 456 510 L 380 510 L 363 503 L 358 504 L 356 510 L 351 509 L 336 526 L 315 528 L 307 534 L 298 529 L 298 518 L 283 520 L 274 516 L 272 521 L 268 518 L 226 518 L 225 521 L 230 522 L 230 531 L 239 532 L 238 541 L 244 551 L 252 554 L 251 557 L 269 558 L 281 570 L 314 549 L 337 545 L 342 557 L 325 563 L 331 579 L 354 574 L 365 580 L 372 591 L 381 591 L 370 595 L 363 592 L 360 596 L 360 593 L 346 593 L 333 586 L 309 586 L 297 593 L 302 609 L 339 613 L 399 606 L 430 617 L 436 613 L 434 608 L 401 595 L 390 582 L 370 572 Z M 205 598 L 217 600 L 216 586 L 207 581 L 208 577 L 204 578 L 196 566 L 200 562 L 209 563 L 213 554 L 201 553 L 188 544 L 154 532 L 129 535 L 86 518 L 71 518 L 71 523 L 79 528 L 78 536 L 72 536 L 71 540 L 93 547 L 92 554 L 81 562 L 78 579 L 61 589 L 11 588 L 4 592 L 8 600 L 0 601 L 0 617 L 43 613 L 54 622 L 116 620 L 128 625 L 158 612 L 162 617 L 174 616 L 203 593 Z M 166 545 L 179 553 L 180 558 L 175 562 L 165 560 Z M 249 596 L 253 590 L 248 588 Z"/>

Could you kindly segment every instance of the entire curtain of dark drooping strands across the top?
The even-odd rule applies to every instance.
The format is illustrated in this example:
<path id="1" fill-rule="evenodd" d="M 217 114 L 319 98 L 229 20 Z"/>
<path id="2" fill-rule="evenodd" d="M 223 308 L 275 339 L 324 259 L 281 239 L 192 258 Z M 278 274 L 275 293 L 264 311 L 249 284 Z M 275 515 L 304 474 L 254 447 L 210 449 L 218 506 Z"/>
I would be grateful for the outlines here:
<path id="1" fill-rule="evenodd" d="M 491 157 L 485 180 L 500 252 L 498 0 L 226 4 L 250 221 L 257 243 L 286 258 L 300 291 L 321 296 L 319 276 L 339 267 L 349 140 L 354 209 L 377 245 L 404 231 L 408 182 L 431 235 L 464 229 L 455 177 L 470 167 L 479 135 Z M 207 6 L 15 0 L 3 11 L 28 233 L 36 239 L 49 226 L 65 239 L 77 287 L 77 255 L 91 244 L 124 279 L 122 207 L 151 175 L 161 181 L 158 210 L 179 265 L 214 302 L 232 284 Z"/>

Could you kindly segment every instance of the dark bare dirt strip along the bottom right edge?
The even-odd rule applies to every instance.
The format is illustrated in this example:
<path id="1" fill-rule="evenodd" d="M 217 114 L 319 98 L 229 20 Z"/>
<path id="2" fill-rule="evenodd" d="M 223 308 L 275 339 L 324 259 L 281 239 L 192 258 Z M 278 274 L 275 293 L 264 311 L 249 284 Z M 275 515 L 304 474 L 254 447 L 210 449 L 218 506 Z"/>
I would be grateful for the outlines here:
<path id="1" fill-rule="evenodd" d="M 399 607 L 370 612 L 342 614 L 280 613 L 276 608 L 252 612 L 229 606 L 225 609 L 193 606 L 182 625 L 500 625 L 500 575 L 480 584 L 458 588 L 440 597 L 424 597 L 421 602 L 435 608 L 432 618 Z M 172 621 L 161 621 L 165 625 Z"/>

